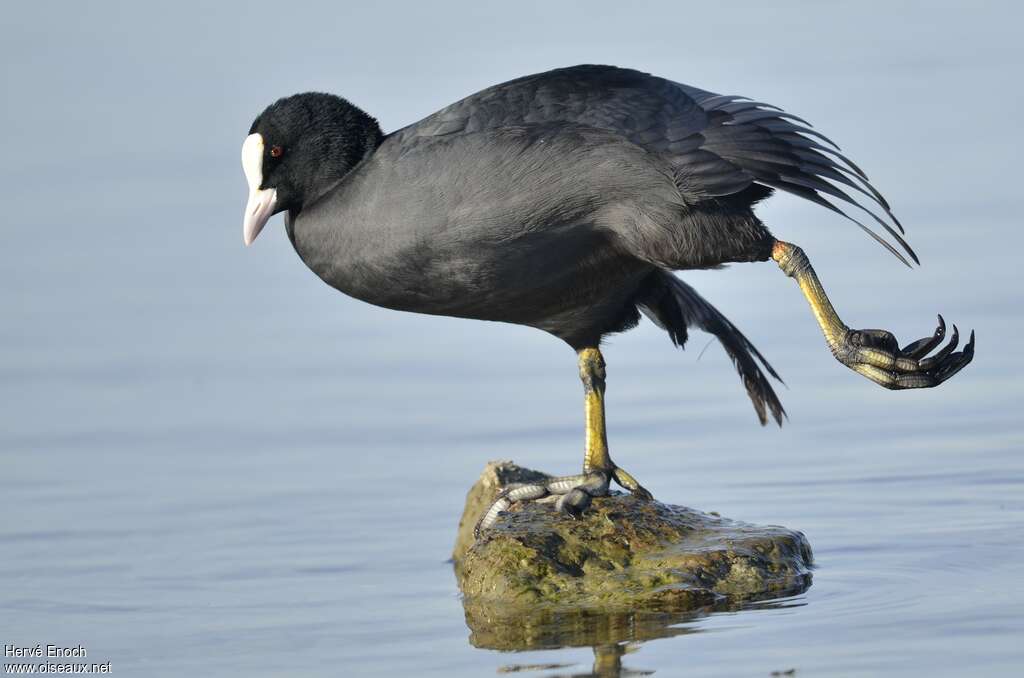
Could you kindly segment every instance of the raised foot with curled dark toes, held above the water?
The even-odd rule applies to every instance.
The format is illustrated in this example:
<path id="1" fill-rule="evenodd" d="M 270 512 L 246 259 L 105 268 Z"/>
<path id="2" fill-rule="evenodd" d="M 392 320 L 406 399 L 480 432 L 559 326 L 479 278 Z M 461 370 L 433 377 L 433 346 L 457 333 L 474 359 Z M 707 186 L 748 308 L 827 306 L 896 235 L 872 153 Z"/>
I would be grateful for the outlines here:
<path id="1" fill-rule="evenodd" d="M 903 348 L 891 332 L 885 330 L 846 330 L 831 345 L 836 358 L 851 370 L 889 389 L 931 388 L 963 370 L 974 358 L 974 331 L 963 350 L 955 351 L 959 333 L 953 326 L 949 342 L 928 355 L 942 343 L 946 324 L 939 325 L 931 337 L 912 341 Z"/>

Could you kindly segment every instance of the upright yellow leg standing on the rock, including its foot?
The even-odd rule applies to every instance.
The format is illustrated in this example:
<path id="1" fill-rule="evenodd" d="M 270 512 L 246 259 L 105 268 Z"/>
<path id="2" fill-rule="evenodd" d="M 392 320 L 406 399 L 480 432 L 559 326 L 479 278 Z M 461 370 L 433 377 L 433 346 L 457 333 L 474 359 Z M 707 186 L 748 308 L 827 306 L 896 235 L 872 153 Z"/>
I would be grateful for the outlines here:
<path id="1" fill-rule="evenodd" d="M 583 380 L 586 442 L 583 473 L 552 478 L 543 483 L 516 483 L 505 488 L 477 522 L 474 534 L 490 527 L 502 511 L 516 502 L 555 500 L 555 508 L 579 517 L 594 497 L 605 497 L 608 483 L 614 480 L 641 499 L 651 499 L 636 478 L 615 466 L 608 454 L 604 427 L 604 358 L 595 346 L 579 351 L 580 378 Z"/>

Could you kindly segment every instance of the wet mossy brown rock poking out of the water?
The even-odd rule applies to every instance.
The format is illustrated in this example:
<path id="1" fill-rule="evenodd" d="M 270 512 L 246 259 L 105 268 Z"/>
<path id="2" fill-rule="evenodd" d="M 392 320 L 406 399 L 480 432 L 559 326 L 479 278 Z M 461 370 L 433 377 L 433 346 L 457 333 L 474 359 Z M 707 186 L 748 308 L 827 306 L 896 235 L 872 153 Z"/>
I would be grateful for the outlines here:
<path id="1" fill-rule="evenodd" d="M 502 486 L 546 477 L 490 462 L 469 491 L 453 553 L 467 615 L 516 606 L 708 610 L 810 586 L 811 547 L 799 532 L 625 494 L 595 499 L 579 520 L 551 504 L 517 504 L 474 541 Z"/>

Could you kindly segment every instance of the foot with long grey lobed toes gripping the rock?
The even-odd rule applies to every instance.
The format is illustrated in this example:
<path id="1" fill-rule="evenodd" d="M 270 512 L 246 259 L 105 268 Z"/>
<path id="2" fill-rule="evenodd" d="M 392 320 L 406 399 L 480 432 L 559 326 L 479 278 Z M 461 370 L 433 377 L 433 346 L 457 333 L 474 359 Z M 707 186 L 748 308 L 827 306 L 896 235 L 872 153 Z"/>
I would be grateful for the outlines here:
<path id="1" fill-rule="evenodd" d="M 473 536 L 479 539 L 480 533 L 494 525 L 498 521 L 498 516 L 503 511 L 509 510 L 516 502 L 553 501 L 556 510 L 565 511 L 573 518 L 579 518 L 590 508 L 595 497 L 608 496 L 608 484 L 612 479 L 639 499 L 653 499 L 636 478 L 617 466 L 610 472 L 591 471 L 580 475 L 551 478 L 542 483 L 515 483 L 502 490 L 498 499 L 476 523 Z"/>

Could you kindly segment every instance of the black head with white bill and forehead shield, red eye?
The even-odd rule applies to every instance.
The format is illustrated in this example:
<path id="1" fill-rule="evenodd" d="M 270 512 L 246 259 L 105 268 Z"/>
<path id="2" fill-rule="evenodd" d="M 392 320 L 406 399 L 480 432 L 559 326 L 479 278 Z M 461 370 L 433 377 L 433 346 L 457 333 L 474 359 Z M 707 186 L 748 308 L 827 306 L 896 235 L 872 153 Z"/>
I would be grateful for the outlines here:
<path id="1" fill-rule="evenodd" d="M 267 107 L 242 144 L 242 169 L 249 182 L 245 244 L 256 240 L 274 214 L 300 212 L 382 139 L 376 120 L 334 94 L 295 94 Z"/>

